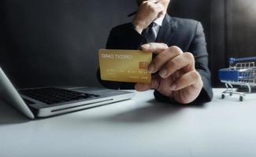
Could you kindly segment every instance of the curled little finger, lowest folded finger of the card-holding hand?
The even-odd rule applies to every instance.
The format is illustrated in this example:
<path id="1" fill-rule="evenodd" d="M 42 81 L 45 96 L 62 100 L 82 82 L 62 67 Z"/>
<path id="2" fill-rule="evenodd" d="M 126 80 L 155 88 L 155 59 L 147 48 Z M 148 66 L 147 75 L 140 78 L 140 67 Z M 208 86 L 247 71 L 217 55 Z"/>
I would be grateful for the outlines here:
<path id="1" fill-rule="evenodd" d="M 187 86 L 194 85 L 196 88 L 202 88 L 202 79 L 198 71 L 189 71 L 185 75 L 180 76 L 173 85 L 170 86 L 171 90 L 184 89 Z"/>

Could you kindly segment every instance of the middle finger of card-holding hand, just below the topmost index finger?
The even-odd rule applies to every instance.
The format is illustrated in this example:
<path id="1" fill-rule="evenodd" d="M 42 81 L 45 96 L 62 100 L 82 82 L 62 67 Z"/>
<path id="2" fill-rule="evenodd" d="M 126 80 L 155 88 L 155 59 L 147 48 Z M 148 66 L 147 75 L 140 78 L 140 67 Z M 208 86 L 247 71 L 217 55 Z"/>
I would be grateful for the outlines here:
<path id="1" fill-rule="evenodd" d="M 165 49 L 164 51 L 159 53 L 158 56 L 154 58 L 148 70 L 151 73 L 155 73 L 159 71 L 170 60 L 173 60 L 173 58 L 180 56 L 182 53 L 183 52 L 179 47 L 171 46 L 168 49 Z"/>

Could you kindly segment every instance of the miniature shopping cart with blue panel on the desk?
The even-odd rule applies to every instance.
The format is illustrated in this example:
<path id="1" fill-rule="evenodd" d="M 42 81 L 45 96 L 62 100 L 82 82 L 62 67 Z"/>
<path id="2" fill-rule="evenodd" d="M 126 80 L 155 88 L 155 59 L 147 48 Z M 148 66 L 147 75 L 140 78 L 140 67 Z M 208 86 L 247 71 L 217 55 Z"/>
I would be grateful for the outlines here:
<path id="1" fill-rule="evenodd" d="M 229 68 L 219 70 L 219 79 L 226 86 L 226 90 L 222 92 L 221 98 L 225 95 L 232 96 L 239 95 L 239 100 L 243 101 L 247 93 L 251 93 L 251 87 L 256 86 L 256 57 L 246 58 L 230 58 Z M 247 88 L 246 92 L 236 92 L 233 86 L 244 86 Z"/>

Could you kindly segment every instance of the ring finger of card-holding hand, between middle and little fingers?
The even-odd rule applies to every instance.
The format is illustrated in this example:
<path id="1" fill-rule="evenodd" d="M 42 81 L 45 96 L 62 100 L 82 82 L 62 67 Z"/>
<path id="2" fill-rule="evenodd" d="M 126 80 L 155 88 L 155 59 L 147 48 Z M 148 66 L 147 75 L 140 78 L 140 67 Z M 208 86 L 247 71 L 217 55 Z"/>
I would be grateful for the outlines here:
<path id="1" fill-rule="evenodd" d="M 162 63 L 158 65 L 161 64 Z M 191 53 L 182 53 L 174 57 L 172 60 L 169 60 L 167 64 L 165 64 L 163 68 L 161 68 L 161 71 L 159 71 L 159 75 L 163 79 L 165 79 L 168 78 L 170 75 L 173 75 L 174 72 L 179 71 L 183 68 L 186 68 L 187 71 L 195 70 L 195 59 Z"/>

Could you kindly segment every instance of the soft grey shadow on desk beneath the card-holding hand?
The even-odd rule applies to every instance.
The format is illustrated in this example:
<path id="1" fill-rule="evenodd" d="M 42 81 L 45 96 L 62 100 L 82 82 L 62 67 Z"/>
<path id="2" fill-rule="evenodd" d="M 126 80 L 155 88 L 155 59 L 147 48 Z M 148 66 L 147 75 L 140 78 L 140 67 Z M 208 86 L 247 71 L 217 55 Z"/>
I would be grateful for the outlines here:
<path id="1" fill-rule="evenodd" d="M 196 106 L 186 106 L 182 104 L 164 104 L 159 103 L 157 100 L 150 100 L 147 102 L 147 106 L 141 108 L 134 108 L 130 111 L 124 111 L 117 115 L 107 117 L 105 120 L 113 122 L 154 122 L 165 117 L 172 117 L 176 115 L 184 108 L 204 108 L 203 104 Z M 138 104 L 139 106 L 139 104 Z"/>

